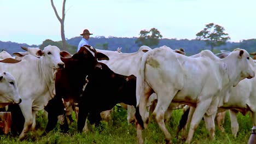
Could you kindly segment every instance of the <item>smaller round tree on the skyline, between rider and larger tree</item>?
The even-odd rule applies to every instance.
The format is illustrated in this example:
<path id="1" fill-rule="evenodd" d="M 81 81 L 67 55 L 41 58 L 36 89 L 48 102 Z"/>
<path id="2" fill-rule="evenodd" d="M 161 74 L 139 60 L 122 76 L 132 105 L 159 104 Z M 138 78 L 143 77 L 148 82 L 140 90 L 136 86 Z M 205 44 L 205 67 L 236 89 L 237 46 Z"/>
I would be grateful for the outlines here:
<path id="1" fill-rule="evenodd" d="M 144 29 L 139 33 L 139 38 L 135 41 L 135 44 L 137 44 L 138 46 L 154 46 L 158 45 L 159 38 L 162 38 L 162 35 L 158 31 L 158 29 L 151 28 L 150 31 Z"/>

